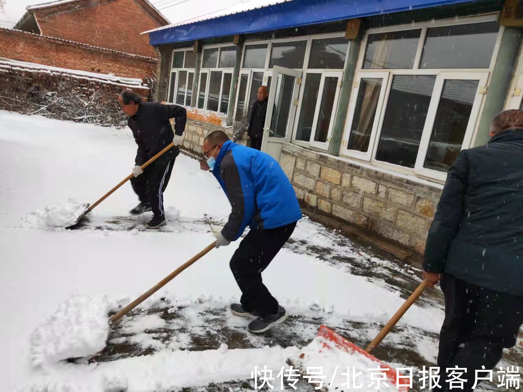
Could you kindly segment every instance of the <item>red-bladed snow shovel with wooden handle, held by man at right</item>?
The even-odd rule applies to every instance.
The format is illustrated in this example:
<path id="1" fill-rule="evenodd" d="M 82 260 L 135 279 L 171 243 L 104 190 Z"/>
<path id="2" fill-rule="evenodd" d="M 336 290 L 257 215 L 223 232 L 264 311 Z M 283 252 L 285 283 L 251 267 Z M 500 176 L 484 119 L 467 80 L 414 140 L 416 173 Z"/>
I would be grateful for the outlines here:
<path id="1" fill-rule="evenodd" d="M 321 325 L 320 329 L 318 330 L 317 336 L 321 337 L 323 340 L 322 348 L 325 350 L 340 350 L 344 351 L 349 354 L 353 355 L 362 355 L 368 360 L 371 360 L 372 362 L 376 362 L 380 368 L 388 368 L 388 371 L 384 371 L 386 374 L 387 381 L 393 385 L 396 385 L 397 381 L 397 373 L 394 370 L 392 366 L 389 366 L 385 364 L 384 362 L 377 359 L 374 355 L 372 355 L 372 352 L 376 347 L 378 347 L 378 344 L 381 343 L 381 341 L 385 338 L 385 336 L 390 332 L 390 330 L 396 325 L 396 323 L 400 320 L 400 318 L 405 314 L 405 312 L 408 310 L 408 308 L 411 307 L 411 305 L 418 299 L 418 297 L 425 291 L 427 288 L 427 281 L 423 281 L 420 283 L 420 285 L 417 287 L 416 290 L 411 294 L 410 297 L 407 298 L 405 303 L 400 307 L 400 309 L 397 310 L 397 312 L 392 316 L 392 318 L 389 320 L 387 324 L 381 329 L 380 333 L 372 340 L 369 345 L 367 345 L 365 350 L 362 350 L 359 348 L 356 344 L 353 342 L 345 339 L 344 337 L 338 335 L 336 332 L 334 332 L 332 329 L 329 329 L 328 327 Z M 303 354 L 302 354 L 303 355 Z M 301 357 L 300 357 L 301 358 Z M 401 375 L 401 374 L 400 374 Z M 400 384 L 399 386 L 396 386 L 399 388 L 398 390 L 400 392 L 406 392 L 409 387 L 407 385 Z"/>

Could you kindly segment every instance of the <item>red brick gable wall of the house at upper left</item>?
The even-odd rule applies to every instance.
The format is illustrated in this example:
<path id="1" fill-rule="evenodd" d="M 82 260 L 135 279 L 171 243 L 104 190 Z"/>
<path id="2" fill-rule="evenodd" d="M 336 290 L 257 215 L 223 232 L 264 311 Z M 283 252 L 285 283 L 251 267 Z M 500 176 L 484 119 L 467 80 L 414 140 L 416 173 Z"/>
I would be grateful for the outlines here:
<path id="1" fill-rule="evenodd" d="M 33 11 L 43 36 L 87 43 L 96 47 L 156 57 L 143 31 L 161 27 L 134 0 L 112 0 L 74 10 L 61 6 Z"/>

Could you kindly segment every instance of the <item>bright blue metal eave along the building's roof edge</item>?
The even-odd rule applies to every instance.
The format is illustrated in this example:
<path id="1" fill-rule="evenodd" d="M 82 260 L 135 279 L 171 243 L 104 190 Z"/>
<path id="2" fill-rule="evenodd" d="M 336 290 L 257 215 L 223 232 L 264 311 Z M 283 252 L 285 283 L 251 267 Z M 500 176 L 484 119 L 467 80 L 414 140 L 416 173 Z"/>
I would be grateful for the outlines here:
<path id="1" fill-rule="evenodd" d="M 151 45 L 194 41 L 391 14 L 471 0 L 293 0 L 149 33 Z"/>

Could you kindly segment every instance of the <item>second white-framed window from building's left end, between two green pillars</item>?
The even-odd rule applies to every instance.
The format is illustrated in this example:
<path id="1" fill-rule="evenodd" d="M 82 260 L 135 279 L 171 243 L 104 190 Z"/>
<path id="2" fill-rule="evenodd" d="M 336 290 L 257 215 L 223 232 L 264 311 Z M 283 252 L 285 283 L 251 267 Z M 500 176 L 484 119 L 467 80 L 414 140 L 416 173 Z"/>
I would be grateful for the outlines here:
<path id="1" fill-rule="evenodd" d="M 235 62 L 235 45 L 203 48 L 198 108 L 227 113 Z"/>

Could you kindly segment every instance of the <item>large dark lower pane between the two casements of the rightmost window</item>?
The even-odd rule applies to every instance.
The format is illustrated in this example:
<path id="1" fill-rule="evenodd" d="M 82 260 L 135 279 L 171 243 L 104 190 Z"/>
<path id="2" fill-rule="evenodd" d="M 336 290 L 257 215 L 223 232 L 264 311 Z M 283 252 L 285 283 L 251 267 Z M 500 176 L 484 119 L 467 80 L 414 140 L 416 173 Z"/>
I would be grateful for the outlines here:
<path id="1" fill-rule="evenodd" d="M 436 76 L 395 75 L 376 159 L 413 168 Z"/>

